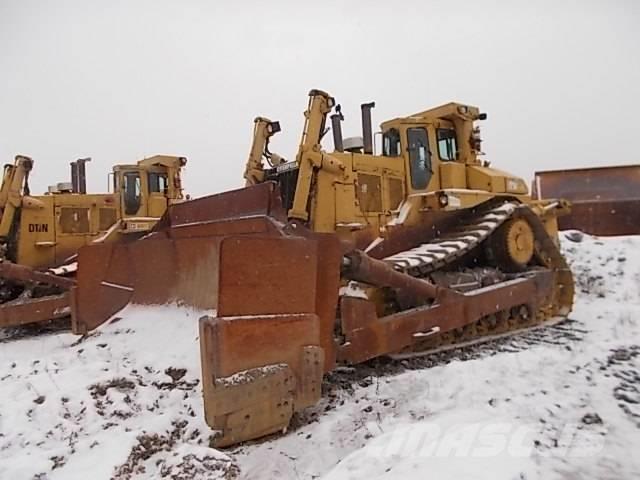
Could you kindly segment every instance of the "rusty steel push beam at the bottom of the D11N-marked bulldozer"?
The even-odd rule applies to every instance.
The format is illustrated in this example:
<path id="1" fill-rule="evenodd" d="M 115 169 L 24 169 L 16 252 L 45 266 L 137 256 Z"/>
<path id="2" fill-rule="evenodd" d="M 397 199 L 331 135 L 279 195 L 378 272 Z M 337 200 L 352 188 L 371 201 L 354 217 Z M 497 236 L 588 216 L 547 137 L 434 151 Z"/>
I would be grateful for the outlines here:
<path id="1" fill-rule="evenodd" d="M 23 303 L 0 305 L 0 327 L 16 327 L 44 322 L 71 314 L 69 293 L 32 298 Z"/>

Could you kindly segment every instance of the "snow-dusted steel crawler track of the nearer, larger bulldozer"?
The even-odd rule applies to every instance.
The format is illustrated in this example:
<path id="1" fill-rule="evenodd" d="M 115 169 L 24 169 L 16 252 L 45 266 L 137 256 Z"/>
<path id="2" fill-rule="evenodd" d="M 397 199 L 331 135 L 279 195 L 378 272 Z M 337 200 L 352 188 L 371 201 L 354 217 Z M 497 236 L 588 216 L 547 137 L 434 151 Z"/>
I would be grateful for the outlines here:
<path id="1" fill-rule="evenodd" d="M 528 330 L 555 325 L 567 317 L 573 299 L 573 281 L 569 267 L 557 245 L 547 234 L 540 218 L 527 206 L 517 201 L 502 201 L 489 205 L 462 226 L 430 242 L 384 259 L 396 270 L 415 277 L 428 276 L 438 269 L 453 264 L 463 255 L 480 247 L 506 221 L 524 218 L 532 227 L 536 244 L 536 257 L 544 268 L 554 275 L 554 300 L 536 312 L 520 305 L 483 317 L 463 328 L 430 336 L 400 352 L 393 358 L 425 356 L 437 352 L 489 342 Z M 568 273 L 568 275 L 563 274 Z M 526 275 L 526 271 L 521 275 Z M 564 290 L 567 289 L 566 293 Z M 554 307 L 555 306 L 555 307 Z"/>

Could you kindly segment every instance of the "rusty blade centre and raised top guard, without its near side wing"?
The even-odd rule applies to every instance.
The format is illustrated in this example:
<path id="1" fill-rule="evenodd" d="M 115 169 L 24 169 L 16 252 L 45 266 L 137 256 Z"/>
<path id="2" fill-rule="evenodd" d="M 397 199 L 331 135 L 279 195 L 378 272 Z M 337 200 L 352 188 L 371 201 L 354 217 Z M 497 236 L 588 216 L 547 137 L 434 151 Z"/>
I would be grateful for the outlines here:
<path id="1" fill-rule="evenodd" d="M 280 235 L 284 221 L 274 185 L 261 184 L 173 205 L 140 240 L 82 247 L 72 290 L 74 333 L 98 327 L 128 303 L 215 310 L 223 238 Z"/>

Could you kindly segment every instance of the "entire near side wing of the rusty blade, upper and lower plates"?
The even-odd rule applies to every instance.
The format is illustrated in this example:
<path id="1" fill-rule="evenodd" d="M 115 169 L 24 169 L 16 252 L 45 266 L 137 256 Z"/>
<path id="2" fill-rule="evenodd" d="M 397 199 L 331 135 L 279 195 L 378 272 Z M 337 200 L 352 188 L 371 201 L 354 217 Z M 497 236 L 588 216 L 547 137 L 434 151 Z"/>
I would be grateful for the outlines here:
<path id="1" fill-rule="evenodd" d="M 280 431 L 319 400 L 335 364 L 340 259 L 333 235 L 223 240 L 218 317 L 200 322 L 205 416 L 222 432 L 215 445 Z"/>

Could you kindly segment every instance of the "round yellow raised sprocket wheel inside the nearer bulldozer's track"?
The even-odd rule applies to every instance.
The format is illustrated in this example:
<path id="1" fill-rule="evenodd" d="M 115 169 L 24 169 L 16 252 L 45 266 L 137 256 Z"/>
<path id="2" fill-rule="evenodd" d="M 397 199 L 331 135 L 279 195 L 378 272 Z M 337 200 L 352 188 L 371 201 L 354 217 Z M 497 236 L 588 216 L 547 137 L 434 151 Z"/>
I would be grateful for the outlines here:
<path id="1" fill-rule="evenodd" d="M 524 270 L 535 252 L 535 236 L 529 222 L 513 218 L 505 222 L 489 239 L 487 256 L 506 271 Z"/>

